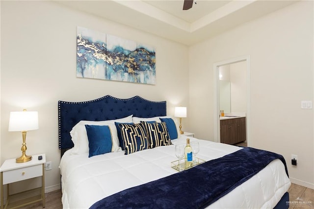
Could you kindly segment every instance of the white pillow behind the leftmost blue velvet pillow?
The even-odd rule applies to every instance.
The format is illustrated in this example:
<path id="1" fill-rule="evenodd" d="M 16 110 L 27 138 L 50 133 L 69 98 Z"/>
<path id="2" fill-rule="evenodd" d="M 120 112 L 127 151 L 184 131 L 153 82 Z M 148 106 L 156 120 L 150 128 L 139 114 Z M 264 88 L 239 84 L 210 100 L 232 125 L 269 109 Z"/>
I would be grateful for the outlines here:
<path id="1" fill-rule="evenodd" d="M 74 143 L 74 148 L 72 149 L 72 154 L 80 154 L 80 153 L 88 153 L 88 137 L 87 132 L 85 129 L 85 125 L 97 125 L 102 126 L 106 125 L 110 127 L 111 134 L 112 134 L 112 149 L 111 152 L 118 152 L 121 151 L 121 147 L 119 144 L 117 128 L 114 125 L 114 122 L 119 123 L 131 123 L 132 122 L 132 115 L 120 118 L 116 120 L 107 120 L 107 121 L 79 121 L 77 125 L 75 125 L 72 130 L 70 131 L 71 139 Z"/>

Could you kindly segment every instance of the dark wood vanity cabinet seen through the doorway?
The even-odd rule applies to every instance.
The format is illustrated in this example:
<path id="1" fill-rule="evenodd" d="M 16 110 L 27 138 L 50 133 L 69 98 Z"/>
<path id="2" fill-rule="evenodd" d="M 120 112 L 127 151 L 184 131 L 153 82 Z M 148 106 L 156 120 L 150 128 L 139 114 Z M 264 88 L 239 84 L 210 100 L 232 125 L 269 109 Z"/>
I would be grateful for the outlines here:
<path id="1" fill-rule="evenodd" d="M 245 117 L 220 120 L 220 142 L 236 144 L 246 140 Z"/>

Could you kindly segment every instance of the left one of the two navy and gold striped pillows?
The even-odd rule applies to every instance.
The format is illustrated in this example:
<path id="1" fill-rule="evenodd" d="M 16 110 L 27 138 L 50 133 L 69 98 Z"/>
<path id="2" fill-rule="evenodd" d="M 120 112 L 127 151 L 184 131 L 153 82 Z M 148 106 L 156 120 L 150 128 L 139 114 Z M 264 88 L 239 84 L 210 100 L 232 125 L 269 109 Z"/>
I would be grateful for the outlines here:
<path id="1" fill-rule="evenodd" d="M 145 126 L 139 124 L 119 124 L 125 148 L 125 155 L 149 148 Z"/>

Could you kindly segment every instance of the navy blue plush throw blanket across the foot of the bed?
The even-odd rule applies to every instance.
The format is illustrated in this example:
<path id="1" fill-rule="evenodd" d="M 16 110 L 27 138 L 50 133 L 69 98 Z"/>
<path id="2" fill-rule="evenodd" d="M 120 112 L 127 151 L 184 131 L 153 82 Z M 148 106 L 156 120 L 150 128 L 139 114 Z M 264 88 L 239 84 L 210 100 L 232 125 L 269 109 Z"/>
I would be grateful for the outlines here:
<path id="1" fill-rule="evenodd" d="M 243 148 L 159 180 L 108 196 L 90 209 L 199 209 L 205 208 L 247 181 L 274 159 L 276 153 Z"/>

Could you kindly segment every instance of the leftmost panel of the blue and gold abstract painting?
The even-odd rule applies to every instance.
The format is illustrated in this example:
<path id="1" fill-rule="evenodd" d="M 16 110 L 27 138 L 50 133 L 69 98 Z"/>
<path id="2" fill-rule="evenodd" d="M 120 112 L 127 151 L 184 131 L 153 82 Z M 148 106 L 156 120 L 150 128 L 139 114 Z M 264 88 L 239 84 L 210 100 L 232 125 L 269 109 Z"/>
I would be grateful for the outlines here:
<path id="1" fill-rule="evenodd" d="M 84 27 L 77 29 L 77 77 L 105 78 L 106 34 Z"/>

